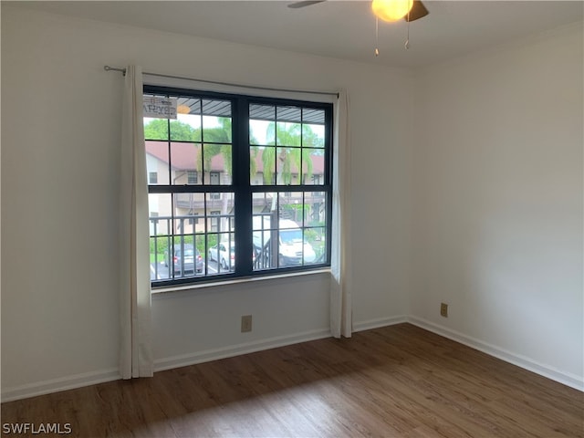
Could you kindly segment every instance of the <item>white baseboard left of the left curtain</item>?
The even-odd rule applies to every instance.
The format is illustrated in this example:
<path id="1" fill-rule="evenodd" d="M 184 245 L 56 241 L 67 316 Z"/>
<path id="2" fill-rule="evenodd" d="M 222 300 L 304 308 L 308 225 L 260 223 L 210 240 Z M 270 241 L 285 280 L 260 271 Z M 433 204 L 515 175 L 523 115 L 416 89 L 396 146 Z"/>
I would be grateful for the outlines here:
<path id="1" fill-rule="evenodd" d="M 118 369 L 84 372 L 73 376 L 51 379 L 49 381 L 38 381 L 13 388 L 3 388 L 1 398 L 4 403 L 5 401 L 27 399 L 29 397 L 36 397 L 37 395 L 74 390 L 83 386 L 95 385 L 106 381 L 118 381 L 120 379 L 120 370 Z"/>

